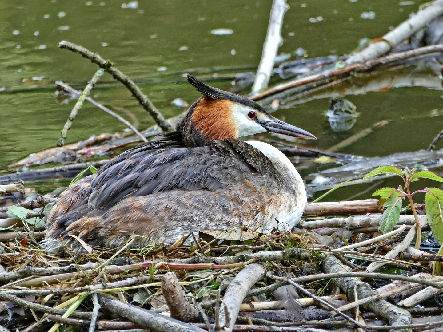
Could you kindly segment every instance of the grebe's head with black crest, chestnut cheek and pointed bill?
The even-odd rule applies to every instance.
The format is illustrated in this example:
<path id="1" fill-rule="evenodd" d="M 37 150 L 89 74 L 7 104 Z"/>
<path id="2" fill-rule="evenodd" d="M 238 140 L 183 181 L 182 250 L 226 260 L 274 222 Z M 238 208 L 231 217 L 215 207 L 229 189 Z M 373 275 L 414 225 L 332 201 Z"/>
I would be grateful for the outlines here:
<path id="1" fill-rule="evenodd" d="M 187 78 L 203 95 L 190 106 L 177 126 L 187 146 L 204 146 L 213 140 L 237 139 L 267 131 L 317 139 L 303 129 L 276 119 L 247 97 L 213 88 L 189 74 Z"/>

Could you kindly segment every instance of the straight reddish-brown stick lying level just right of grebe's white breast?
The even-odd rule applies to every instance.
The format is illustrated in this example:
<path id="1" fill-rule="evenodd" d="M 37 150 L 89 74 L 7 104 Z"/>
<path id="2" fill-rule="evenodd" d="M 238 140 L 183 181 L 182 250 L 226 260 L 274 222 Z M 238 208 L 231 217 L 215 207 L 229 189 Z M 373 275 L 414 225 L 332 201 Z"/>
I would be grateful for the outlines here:
<path id="1" fill-rule="evenodd" d="M 360 201 L 308 203 L 303 216 L 383 213 L 385 210 L 377 202 L 378 200 L 369 198 Z"/>

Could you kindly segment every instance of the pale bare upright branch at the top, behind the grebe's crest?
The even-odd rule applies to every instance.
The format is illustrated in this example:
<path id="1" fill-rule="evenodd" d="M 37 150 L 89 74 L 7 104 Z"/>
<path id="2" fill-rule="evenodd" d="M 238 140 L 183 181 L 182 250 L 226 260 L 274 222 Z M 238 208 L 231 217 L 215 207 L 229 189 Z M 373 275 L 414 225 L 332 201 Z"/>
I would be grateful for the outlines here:
<path id="1" fill-rule="evenodd" d="M 268 87 L 272 69 L 276 61 L 277 51 L 283 45 L 281 27 L 284 13 L 289 9 L 286 0 L 274 0 L 272 3 L 271 17 L 269 19 L 268 33 L 263 44 L 260 65 L 257 69 L 252 94 L 255 95 Z"/>

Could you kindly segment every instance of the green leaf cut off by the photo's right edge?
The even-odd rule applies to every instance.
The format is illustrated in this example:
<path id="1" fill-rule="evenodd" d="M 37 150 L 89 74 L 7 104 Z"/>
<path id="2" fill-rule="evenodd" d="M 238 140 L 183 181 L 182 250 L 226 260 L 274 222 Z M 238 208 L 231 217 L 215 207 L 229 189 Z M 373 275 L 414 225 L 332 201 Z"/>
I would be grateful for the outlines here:
<path id="1" fill-rule="evenodd" d="M 438 188 L 428 188 L 424 204 L 429 227 L 435 239 L 443 244 L 443 191 Z"/>

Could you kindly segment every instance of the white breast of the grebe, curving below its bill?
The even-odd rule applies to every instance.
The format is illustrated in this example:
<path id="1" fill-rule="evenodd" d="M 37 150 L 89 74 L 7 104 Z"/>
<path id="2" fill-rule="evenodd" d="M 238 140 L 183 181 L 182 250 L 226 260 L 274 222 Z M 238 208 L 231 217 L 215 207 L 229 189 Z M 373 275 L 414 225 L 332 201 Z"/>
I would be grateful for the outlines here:
<path id="1" fill-rule="evenodd" d="M 307 205 L 306 189 L 303 184 L 303 179 L 299 172 L 295 169 L 292 162 L 281 151 L 268 143 L 259 141 L 246 141 L 257 150 L 260 150 L 266 157 L 268 157 L 277 170 L 288 180 L 288 185 L 291 185 L 297 194 L 282 193 L 284 202 L 279 211 L 276 211 L 275 216 L 268 221 L 266 226 L 268 230 L 278 226 L 280 230 L 285 228 L 294 228 L 300 221 L 303 211 Z M 275 221 L 276 218 L 280 224 Z"/>

